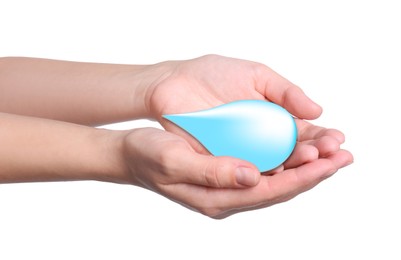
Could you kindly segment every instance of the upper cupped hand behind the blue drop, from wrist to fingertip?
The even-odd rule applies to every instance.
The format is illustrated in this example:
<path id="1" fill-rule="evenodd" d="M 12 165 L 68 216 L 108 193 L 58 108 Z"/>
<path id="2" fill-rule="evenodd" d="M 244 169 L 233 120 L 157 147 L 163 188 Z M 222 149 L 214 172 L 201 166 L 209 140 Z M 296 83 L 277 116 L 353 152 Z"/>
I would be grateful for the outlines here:
<path id="1" fill-rule="evenodd" d="M 303 119 L 317 118 L 322 112 L 300 88 L 259 63 L 208 55 L 164 62 L 152 69 L 158 77 L 147 89 L 145 103 L 149 114 L 166 130 L 185 138 L 198 152 L 206 150 L 185 131 L 163 119 L 163 114 L 193 112 L 240 99 L 269 100 Z"/>

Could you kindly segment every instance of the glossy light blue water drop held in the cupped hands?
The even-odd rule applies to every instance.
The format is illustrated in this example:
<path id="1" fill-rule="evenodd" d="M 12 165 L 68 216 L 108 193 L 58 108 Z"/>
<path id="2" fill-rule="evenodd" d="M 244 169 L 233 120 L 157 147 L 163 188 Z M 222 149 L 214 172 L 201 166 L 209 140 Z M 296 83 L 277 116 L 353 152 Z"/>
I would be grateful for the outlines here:
<path id="1" fill-rule="evenodd" d="M 260 172 L 281 165 L 291 155 L 297 139 L 292 115 L 262 100 L 239 100 L 163 117 L 191 134 L 211 154 L 249 161 Z"/>

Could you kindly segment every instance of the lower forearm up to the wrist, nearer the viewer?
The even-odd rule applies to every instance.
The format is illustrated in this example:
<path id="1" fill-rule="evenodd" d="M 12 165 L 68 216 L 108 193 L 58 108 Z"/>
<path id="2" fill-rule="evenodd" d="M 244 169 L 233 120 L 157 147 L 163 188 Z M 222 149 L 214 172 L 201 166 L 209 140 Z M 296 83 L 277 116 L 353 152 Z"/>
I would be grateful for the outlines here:
<path id="1" fill-rule="evenodd" d="M 0 183 L 124 182 L 121 133 L 0 113 Z"/>

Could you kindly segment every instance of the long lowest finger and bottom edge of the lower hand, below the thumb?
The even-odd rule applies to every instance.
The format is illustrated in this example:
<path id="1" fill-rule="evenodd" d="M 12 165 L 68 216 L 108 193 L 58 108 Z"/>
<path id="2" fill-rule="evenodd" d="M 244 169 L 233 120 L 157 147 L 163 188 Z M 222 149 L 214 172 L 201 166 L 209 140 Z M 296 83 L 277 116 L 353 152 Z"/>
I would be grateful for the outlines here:
<path id="1" fill-rule="evenodd" d="M 340 150 L 328 158 L 314 160 L 299 168 L 262 176 L 258 185 L 250 189 L 205 189 L 179 184 L 180 188 L 168 187 L 170 190 L 167 192 L 183 205 L 191 205 L 191 209 L 209 217 L 224 218 L 293 198 L 352 161 L 353 157 L 348 151 Z"/>

